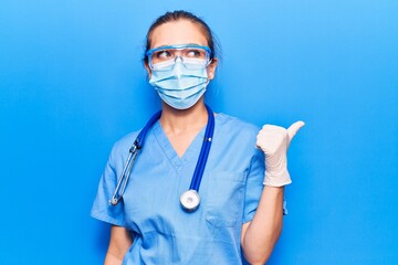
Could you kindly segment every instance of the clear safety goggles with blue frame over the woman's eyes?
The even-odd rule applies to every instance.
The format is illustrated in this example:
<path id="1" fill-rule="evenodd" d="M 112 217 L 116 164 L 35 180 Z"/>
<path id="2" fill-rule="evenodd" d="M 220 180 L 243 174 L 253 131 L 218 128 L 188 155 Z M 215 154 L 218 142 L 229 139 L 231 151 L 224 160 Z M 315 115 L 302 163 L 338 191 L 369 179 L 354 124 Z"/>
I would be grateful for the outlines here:
<path id="1" fill-rule="evenodd" d="M 211 51 L 208 46 L 197 44 L 179 44 L 160 46 L 149 50 L 149 68 L 156 71 L 171 70 L 180 59 L 184 66 L 189 70 L 203 68 L 211 62 Z"/>

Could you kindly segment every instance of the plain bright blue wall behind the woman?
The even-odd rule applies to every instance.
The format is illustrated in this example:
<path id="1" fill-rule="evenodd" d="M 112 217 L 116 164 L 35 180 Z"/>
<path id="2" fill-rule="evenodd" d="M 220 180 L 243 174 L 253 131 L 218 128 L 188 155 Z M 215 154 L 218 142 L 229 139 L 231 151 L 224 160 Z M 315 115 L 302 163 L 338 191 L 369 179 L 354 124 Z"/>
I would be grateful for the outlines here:
<path id="1" fill-rule="evenodd" d="M 101 264 L 88 213 L 112 145 L 159 107 L 142 65 L 167 10 L 221 43 L 208 102 L 259 126 L 306 126 L 269 264 L 398 264 L 398 2 L 0 3 L 0 264 Z"/>

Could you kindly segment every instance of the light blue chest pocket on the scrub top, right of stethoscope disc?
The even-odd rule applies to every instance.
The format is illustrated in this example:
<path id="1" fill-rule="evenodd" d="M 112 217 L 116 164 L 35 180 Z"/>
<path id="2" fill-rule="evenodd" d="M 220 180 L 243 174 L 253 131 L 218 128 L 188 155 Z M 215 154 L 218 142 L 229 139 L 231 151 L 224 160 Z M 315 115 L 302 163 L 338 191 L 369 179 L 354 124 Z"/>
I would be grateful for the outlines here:
<path id="1" fill-rule="evenodd" d="M 216 171 L 208 176 L 206 220 L 216 227 L 241 222 L 244 200 L 244 174 Z"/>

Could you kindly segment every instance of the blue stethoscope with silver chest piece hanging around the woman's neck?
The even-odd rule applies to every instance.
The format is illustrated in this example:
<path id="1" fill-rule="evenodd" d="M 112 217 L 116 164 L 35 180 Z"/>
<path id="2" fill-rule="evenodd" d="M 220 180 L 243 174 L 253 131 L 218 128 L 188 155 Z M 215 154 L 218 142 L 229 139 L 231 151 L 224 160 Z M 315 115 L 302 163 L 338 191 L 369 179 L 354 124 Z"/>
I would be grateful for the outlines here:
<path id="1" fill-rule="evenodd" d="M 212 136 L 213 136 L 213 131 L 214 131 L 213 113 L 207 105 L 206 105 L 206 108 L 207 108 L 209 118 L 208 118 L 208 124 L 206 126 L 203 144 L 200 149 L 200 155 L 199 155 L 198 162 L 197 162 L 195 171 L 193 171 L 193 176 L 191 179 L 191 183 L 189 186 L 189 190 L 185 191 L 180 197 L 180 204 L 181 204 L 182 209 L 186 210 L 187 212 L 193 212 L 199 206 L 199 203 L 200 203 L 200 197 L 198 193 L 199 187 L 200 187 L 200 182 L 201 182 L 201 179 L 203 176 L 206 162 L 209 157 Z M 127 157 L 126 163 L 123 167 L 122 174 L 117 181 L 115 192 L 113 193 L 113 197 L 109 200 L 109 204 L 116 205 L 121 201 L 121 199 L 126 190 L 127 181 L 128 181 L 128 178 L 132 172 L 134 160 L 136 159 L 138 151 L 144 146 L 145 138 L 147 136 L 148 130 L 160 118 L 160 115 L 161 115 L 161 110 L 156 113 L 148 120 L 148 123 L 145 125 L 145 127 L 142 129 L 142 131 L 139 131 L 137 138 L 135 139 L 133 146 L 130 147 L 129 155 Z M 123 180 L 124 180 L 124 182 L 123 182 Z M 122 184 L 122 182 L 123 182 L 123 184 Z"/>

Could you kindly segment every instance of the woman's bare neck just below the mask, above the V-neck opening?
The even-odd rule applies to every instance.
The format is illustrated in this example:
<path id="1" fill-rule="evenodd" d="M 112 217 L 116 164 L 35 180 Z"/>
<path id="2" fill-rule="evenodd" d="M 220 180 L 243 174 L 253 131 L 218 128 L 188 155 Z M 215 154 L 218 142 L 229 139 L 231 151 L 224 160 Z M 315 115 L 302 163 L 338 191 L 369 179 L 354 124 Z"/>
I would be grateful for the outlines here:
<path id="1" fill-rule="evenodd" d="M 188 109 L 175 109 L 163 103 L 160 124 L 167 134 L 184 134 L 189 130 L 198 130 L 208 121 L 208 113 L 203 100 Z"/>

